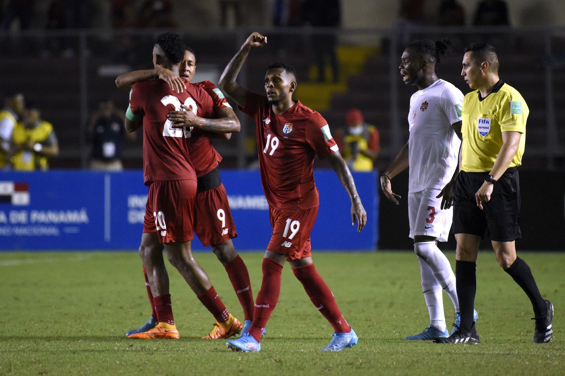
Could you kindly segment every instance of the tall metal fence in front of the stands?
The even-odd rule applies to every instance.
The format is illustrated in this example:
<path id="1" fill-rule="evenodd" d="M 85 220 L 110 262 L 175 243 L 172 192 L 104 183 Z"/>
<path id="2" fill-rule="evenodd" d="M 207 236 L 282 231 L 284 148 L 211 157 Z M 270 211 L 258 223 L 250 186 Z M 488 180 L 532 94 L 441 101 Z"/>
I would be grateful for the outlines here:
<path id="1" fill-rule="evenodd" d="M 194 81 L 217 82 L 225 64 L 245 41 L 250 29 L 179 29 L 197 56 Z M 565 131 L 558 118 L 565 109 L 565 28 L 493 27 L 431 28 L 403 25 L 394 29 L 274 28 L 257 30 L 268 37 L 268 45 L 248 58 L 238 81 L 254 91 L 262 90 L 263 75 L 271 61 L 295 65 L 301 83 L 315 81 L 319 44 L 335 41 L 338 51 L 366 47 L 372 52 L 359 55 L 362 68 L 347 69 L 340 57 L 340 85 L 320 83 L 321 91 L 336 90 L 322 114 L 336 128 L 344 122 L 347 108 L 357 107 L 381 131 L 380 165 L 386 165 L 407 139 L 406 114 L 414 87 L 404 87 L 398 64 L 403 49 L 414 39 L 449 37 L 457 47 L 438 76 L 454 83 L 464 93 L 470 89 L 460 78 L 460 61 L 468 42 L 489 41 L 499 51 L 501 78 L 516 87 L 531 109 L 528 120 L 524 167 L 565 169 Z M 60 139 L 58 166 L 86 167 L 89 159 L 88 123 L 98 101 L 112 99 L 127 107 L 127 94 L 114 79 L 131 69 L 149 69 L 153 40 L 163 30 L 24 30 L 0 33 L 0 77 L 2 90 L 18 90 L 42 109 L 43 117 L 54 123 Z M 332 47 L 332 48 L 333 48 Z M 358 61 L 358 63 L 359 63 Z M 345 88 L 345 89 L 344 89 Z M 345 91 L 344 91 L 345 90 Z M 308 103 L 306 103 L 308 104 Z M 314 106 L 312 106 L 314 107 Z M 314 109 L 316 109 L 314 107 Z M 242 114 L 241 114 L 242 115 Z M 249 118 L 240 116 L 242 131 L 229 143 L 218 144 L 231 166 L 245 167 L 254 159 L 254 132 Z M 251 127 L 251 128 L 250 128 Z M 141 160 L 141 139 L 128 144 L 124 158 Z"/>

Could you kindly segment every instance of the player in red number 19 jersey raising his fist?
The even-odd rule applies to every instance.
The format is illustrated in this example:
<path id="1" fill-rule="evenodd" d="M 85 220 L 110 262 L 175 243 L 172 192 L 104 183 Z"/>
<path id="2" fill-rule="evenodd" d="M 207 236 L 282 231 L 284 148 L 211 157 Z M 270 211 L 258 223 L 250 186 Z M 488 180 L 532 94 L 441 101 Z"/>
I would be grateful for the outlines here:
<path id="1" fill-rule="evenodd" d="M 312 170 L 315 155 L 329 158 L 351 198 L 351 220 L 355 224 L 357 219 L 358 231 L 367 222 L 367 213 L 327 121 L 292 99 L 297 87 L 294 68 L 284 63 L 270 65 L 265 76 L 267 96 L 246 91 L 236 82 L 251 48 L 266 43 L 266 37 L 251 34 L 220 78 L 220 87 L 255 120 L 259 168 L 273 228 L 263 258 L 263 281 L 255 300 L 253 324 L 248 334 L 228 340 L 227 346 L 235 351 L 260 351 L 262 331 L 279 299 L 282 266 L 289 261 L 314 306 L 333 326 L 333 339 L 323 350 L 340 351 L 357 344 L 357 335 L 312 262 L 310 231 L 319 203 Z"/>

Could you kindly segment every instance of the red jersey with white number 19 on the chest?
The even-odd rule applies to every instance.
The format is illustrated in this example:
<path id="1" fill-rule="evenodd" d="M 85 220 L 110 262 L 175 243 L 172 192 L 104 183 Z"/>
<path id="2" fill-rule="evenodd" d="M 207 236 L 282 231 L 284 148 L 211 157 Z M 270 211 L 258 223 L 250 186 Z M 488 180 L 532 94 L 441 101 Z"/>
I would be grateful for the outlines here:
<path id="1" fill-rule="evenodd" d="M 320 159 L 338 150 L 328 122 L 297 101 L 276 115 L 267 97 L 247 91 L 243 112 L 257 126 L 257 151 L 263 191 L 274 209 L 318 206 L 314 155 Z"/>

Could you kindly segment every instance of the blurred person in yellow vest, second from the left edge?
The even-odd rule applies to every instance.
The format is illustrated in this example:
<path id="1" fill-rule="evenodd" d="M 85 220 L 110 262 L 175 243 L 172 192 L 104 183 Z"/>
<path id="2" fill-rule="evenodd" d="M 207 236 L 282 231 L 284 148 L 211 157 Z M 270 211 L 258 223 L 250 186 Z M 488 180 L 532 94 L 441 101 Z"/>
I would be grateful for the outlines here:
<path id="1" fill-rule="evenodd" d="M 23 121 L 16 123 L 12 132 L 12 166 L 14 170 L 47 170 L 47 157 L 59 154 L 59 145 L 53 125 L 41 120 L 41 112 L 34 105 L 24 111 Z"/>

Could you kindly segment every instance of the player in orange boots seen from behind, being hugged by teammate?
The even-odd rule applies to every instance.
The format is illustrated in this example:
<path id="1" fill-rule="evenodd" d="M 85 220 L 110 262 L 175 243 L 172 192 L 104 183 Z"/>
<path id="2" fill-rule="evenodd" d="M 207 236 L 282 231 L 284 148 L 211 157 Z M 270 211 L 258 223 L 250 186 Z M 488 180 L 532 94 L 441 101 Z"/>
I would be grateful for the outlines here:
<path id="1" fill-rule="evenodd" d="M 177 34 L 160 34 L 153 48 L 153 63 L 155 67 L 167 68 L 178 75 L 184 51 L 184 41 Z M 183 83 L 185 89 L 175 92 L 161 80 L 137 82 L 130 94 L 125 128 L 129 132 L 141 126 L 144 129 L 144 180 L 149 186 L 149 196 L 140 255 L 154 297 L 157 326 L 131 334 L 129 338 L 180 337 L 172 315 L 168 276 L 159 243 L 164 245 L 171 264 L 215 315 L 216 321 L 223 326 L 241 327 L 221 302 L 190 249 L 198 189 L 196 171 L 188 152 L 191 134 L 186 127 L 175 127 L 167 115 L 171 109 L 181 109 L 182 104 L 200 117 L 210 118 L 215 114 L 212 98 L 204 89 Z M 221 121 L 210 120 L 211 123 Z"/>

